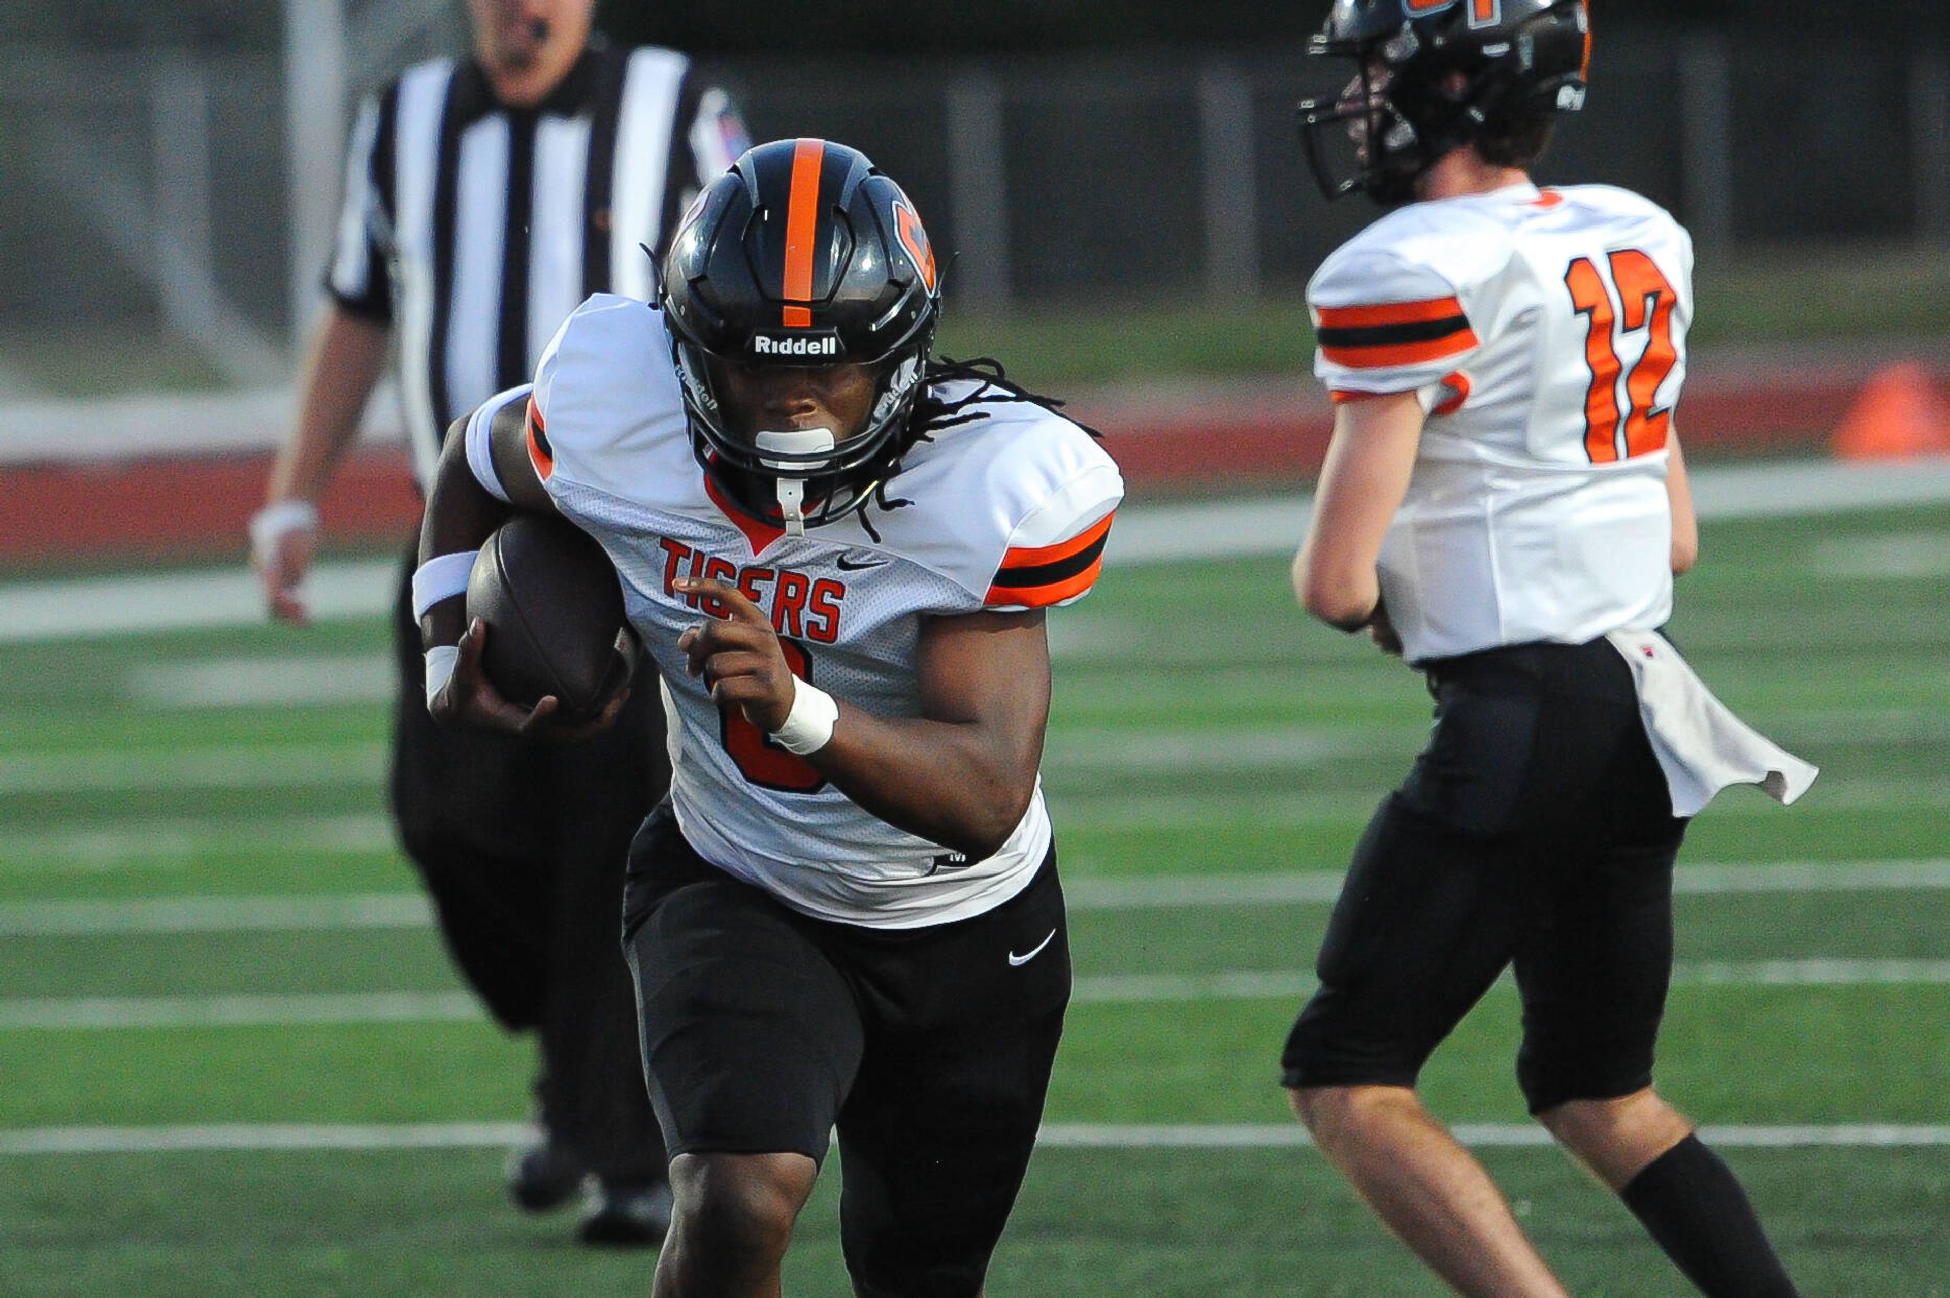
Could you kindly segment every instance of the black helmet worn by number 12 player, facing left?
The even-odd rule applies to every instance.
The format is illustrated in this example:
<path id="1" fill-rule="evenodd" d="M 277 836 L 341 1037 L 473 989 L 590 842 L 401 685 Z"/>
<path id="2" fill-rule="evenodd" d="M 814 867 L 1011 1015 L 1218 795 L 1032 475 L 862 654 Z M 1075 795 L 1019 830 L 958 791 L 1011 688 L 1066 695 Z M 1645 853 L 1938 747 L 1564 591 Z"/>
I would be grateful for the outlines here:
<path id="1" fill-rule="evenodd" d="M 1340 95 L 1301 103 L 1320 191 L 1396 207 L 1449 150 L 1581 109 L 1591 14 L 1587 0 L 1334 0 L 1306 53 L 1355 60 Z M 1355 154 L 1349 168 L 1330 160 L 1338 140 Z"/>

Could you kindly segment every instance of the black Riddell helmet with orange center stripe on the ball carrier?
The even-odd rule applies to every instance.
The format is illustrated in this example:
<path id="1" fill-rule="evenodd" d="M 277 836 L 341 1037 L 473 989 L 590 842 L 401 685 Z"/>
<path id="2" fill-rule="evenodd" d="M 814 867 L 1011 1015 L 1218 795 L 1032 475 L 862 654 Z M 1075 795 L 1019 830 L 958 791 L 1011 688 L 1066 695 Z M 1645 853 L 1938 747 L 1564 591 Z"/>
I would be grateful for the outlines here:
<path id="1" fill-rule="evenodd" d="M 913 444 L 909 413 L 940 300 L 920 214 L 864 154 L 811 138 L 745 152 L 690 205 L 659 286 L 692 450 L 710 481 L 794 534 L 862 509 Z M 868 364 L 866 429 L 731 429 L 712 359 Z"/>

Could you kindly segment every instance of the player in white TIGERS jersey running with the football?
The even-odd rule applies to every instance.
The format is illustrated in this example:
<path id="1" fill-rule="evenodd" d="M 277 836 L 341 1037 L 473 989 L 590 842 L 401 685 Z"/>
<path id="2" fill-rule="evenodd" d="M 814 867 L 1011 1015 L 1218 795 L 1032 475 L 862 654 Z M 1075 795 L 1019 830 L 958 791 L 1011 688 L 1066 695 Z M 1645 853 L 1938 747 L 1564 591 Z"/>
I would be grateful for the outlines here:
<path id="1" fill-rule="evenodd" d="M 835 1128 L 856 1292 L 973 1298 L 1035 1142 L 1071 986 L 1043 610 L 1096 581 L 1123 483 L 998 366 L 932 361 L 938 304 L 889 177 L 759 146 L 690 209 L 659 304 L 585 302 L 429 499 L 437 717 L 558 723 L 462 628 L 464 555 L 511 509 L 603 544 L 661 676 L 675 780 L 624 943 L 665 1298 L 776 1294 Z"/>

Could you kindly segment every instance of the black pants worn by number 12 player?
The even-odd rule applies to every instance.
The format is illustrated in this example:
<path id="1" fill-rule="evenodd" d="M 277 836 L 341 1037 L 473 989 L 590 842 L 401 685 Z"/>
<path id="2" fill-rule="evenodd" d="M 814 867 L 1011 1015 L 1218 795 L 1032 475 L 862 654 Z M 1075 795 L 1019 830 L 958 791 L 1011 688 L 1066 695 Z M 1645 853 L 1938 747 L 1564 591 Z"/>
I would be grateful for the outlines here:
<path id="1" fill-rule="evenodd" d="M 1533 1113 L 1652 1084 L 1685 821 L 1605 639 L 1427 667 L 1435 733 L 1355 848 L 1285 1084 L 1414 1086 L 1505 967 Z"/>

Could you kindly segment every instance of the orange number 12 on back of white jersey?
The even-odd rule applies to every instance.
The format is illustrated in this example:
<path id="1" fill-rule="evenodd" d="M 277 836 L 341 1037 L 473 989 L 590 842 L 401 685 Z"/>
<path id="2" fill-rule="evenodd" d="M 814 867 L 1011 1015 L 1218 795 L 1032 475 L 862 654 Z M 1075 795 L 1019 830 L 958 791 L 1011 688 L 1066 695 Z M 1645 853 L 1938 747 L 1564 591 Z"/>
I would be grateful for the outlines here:
<path id="1" fill-rule="evenodd" d="M 1654 405 L 1659 384 L 1679 363 L 1673 347 L 1673 306 L 1679 294 L 1652 257 L 1628 248 L 1607 257 L 1609 277 L 1589 257 L 1578 257 L 1564 271 L 1572 308 L 1585 318 L 1585 364 L 1591 390 L 1585 394 L 1585 454 L 1591 464 L 1642 456 L 1665 446 L 1671 409 Z M 1607 283 L 1609 281 L 1609 283 Z M 1624 374 L 1618 392 L 1618 335 L 1648 331 L 1646 351 Z M 1620 439 L 1620 425 L 1624 437 Z"/>

